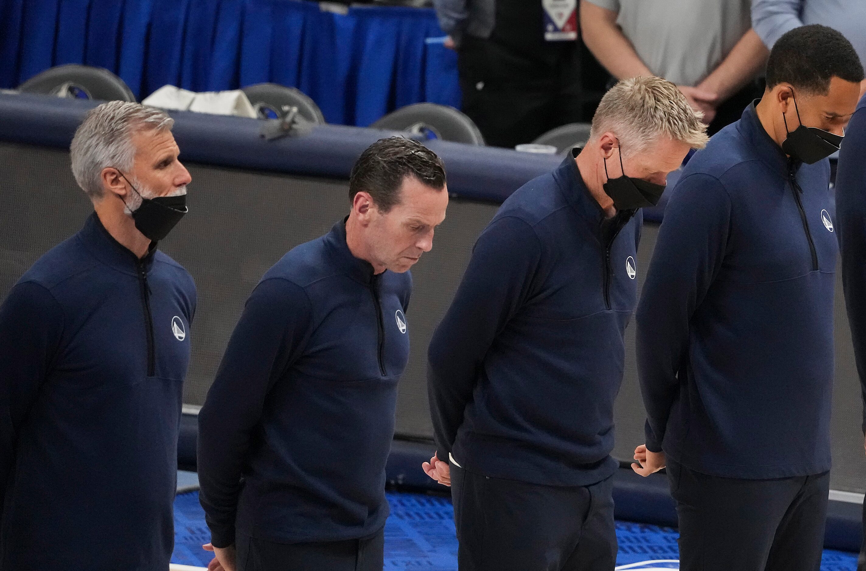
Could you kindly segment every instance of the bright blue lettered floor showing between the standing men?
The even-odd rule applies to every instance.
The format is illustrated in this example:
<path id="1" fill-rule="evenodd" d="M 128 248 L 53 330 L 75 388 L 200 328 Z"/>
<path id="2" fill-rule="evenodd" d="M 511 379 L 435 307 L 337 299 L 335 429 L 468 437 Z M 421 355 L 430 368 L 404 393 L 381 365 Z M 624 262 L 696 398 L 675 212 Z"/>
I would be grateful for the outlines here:
<path id="1" fill-rule="evenodd" d="M 385 524 L 385 571 L 423 568 L 426 571 L 456 571 L 457 539 L 454 510 L 447 497 L 388 492 L 391 516 Z M 206 567 L 212 555 L 202 549 L 210 541 L 198 492 L 178 494 L 174 501 L 175 547 L 172 563 Z M 644 523 L 617 522 L 619 555 L 617 566 L 631 567 L 641 561 L 675 560 L 675 529 Z M 856 571 L 856 554 L 824 551 L 821 571 Z M 678 568 L 675 563 L 653 564 L 653 568 Z"/>

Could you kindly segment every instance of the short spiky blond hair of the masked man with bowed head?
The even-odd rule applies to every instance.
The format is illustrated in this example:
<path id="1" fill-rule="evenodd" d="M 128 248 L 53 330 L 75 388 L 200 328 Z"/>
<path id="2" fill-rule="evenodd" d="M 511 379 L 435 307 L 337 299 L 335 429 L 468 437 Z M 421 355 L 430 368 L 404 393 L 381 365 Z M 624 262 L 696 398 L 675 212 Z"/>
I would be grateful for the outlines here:
<path id="1" fill-rule="evenodd" d="M 632 77 L 604 93 L 592 117 L 590 140 L 612 132 L 627 155 L 646 150 L 660 137 L 702 149 L 709 140 L 702 118 L 703 113 L 692 109 L 670 81 L 652 75 Z"/>

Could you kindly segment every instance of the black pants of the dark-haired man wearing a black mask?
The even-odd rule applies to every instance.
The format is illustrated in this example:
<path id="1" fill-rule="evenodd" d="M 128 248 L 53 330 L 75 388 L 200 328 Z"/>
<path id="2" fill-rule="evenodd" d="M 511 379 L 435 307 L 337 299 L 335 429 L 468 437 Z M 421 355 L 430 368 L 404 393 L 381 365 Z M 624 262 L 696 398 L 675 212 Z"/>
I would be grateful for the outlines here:
<path id="1" fill-rule="evenodd" d="M 830 472 L 745 480 L 668 460 L 683 571 L 818 571 Z"/>

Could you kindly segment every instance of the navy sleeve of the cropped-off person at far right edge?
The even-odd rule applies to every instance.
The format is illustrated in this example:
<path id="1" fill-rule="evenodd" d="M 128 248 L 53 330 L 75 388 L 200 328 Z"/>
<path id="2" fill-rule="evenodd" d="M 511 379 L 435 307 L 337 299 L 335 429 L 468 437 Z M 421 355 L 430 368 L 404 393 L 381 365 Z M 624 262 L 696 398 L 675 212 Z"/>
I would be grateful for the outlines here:
<path id="1" fill-rule="evenodd" d="M 836 234 L 866 431 L 866 98 L 845 130 L 836 173 Z"/>

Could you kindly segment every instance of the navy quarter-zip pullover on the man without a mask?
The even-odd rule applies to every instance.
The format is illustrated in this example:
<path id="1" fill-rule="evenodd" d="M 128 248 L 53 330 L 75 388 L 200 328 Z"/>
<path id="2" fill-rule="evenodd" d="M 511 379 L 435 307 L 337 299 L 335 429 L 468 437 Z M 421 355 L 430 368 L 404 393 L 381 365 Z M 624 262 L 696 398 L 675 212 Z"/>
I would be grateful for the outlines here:
<path id="1" fill-rule="evenodd" d="M 410 273 L 373 274 L 345 221 L 301 244 L 250 295 L 198 416 L 211 539 L 371 536 L 409 358 Z"/>

